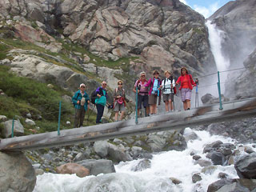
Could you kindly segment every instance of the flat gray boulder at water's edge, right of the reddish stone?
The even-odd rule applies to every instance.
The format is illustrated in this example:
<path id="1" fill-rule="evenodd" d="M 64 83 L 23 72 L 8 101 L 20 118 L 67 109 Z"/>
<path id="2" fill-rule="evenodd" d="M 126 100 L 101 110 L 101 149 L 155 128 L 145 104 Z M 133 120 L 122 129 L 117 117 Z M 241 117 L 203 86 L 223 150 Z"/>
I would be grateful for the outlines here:
<path id="1" fill-rule="evenodd" d="M 88 159 L 88 160 L 83 160 L 83 161 L 77 162 L 77 163 L 86 167 L 88 170 L 90 170 L 90 174 L 92 174 L 92 175 L 98 175 L 101 173 L 103 173 L 103 174 L 115 173 L 114 164 L 110 160 Z"/>

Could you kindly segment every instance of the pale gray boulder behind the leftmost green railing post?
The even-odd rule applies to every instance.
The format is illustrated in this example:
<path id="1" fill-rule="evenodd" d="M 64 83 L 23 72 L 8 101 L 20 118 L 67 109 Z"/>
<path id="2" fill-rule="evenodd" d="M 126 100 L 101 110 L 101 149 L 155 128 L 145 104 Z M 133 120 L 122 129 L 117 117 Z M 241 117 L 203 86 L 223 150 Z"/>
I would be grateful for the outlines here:
<path id="1" fill-rule="evenodd" d="M 13 120 L 2 122 L 2 125 L 4 127 L 3 136 L 5 138 L 9 138 L 11 136 L 12 124 L 13 124 Z M 23 134 L 24 134 L 24 127 L 22 126 L 22 123 L 19 120 L 14 120 L 14 136 L 22 136 Z"/>

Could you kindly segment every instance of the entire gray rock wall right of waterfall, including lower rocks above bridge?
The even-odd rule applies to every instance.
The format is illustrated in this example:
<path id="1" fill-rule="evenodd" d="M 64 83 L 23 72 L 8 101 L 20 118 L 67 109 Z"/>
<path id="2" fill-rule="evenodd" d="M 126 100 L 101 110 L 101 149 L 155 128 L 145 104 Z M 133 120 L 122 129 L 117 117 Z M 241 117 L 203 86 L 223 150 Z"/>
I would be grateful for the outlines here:
<path id="1" fill-rule="evenodd" d="M 230 59 L 230 68 L 242 67 L 229 74 L 226 96 L 245 98 L 255 96 L 256 2 L 237 0 L 228 2 L 210 18 L 218 29 L 225 31 L 222 51 Z"/>

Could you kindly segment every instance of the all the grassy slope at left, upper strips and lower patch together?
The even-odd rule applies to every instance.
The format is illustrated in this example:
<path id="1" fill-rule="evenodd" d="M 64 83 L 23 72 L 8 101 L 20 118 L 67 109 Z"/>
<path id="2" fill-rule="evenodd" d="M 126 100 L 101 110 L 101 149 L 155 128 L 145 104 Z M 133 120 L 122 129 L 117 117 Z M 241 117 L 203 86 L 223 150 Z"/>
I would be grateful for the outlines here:
<path id="1" fill-rule="evenodd" d="M 122 70 L 124 70 L 124 74 L 117 78 L 125 80 L 126 82 L 131 79 L 129 76 L 130 61 L 137 58 L 120 58 L 118 61 L 106 61 L 102 58 L 98 58 L 94 54 L 90 54 L 90 52 L 82 46 L 78 46 L 74 43 L 66 43 L 63 40 L 58 41 L 62 42 L 63 49 L 61 53 L 56 54 L 30 42 L 22 42 L 15 38 L 0 38 L 0 60 L 5 58 L 12 60 L 12 58 L 7 55 L 8 51 L 12 49 L 35 50 L 36 54 L 39 57 L 45 58 L 47 62 L 69 67 L 75 72 L 86 74 L 88 78 L 94 78 L 94 80 L 100 81 L 100 79 L 95 77 L 94 74 L 83 71 L 77 62 L 66 56 L 70 53 L 78 53 L 80 57 L 83 58 L 84 54 L 86 54 L 90 57 L 90 63 L 94 63 L 97 66 L 106 66 L 112 69 L 122 68 Z M 54 57 L 59 56 L 66 62 L 58 62 L 53 58 L 47 57 L 47 55 Z M 54 86 L 54 89 L 50 89 L 44 83 L 11 74 L 7 66 L 0 66 L 0 89 L 2 89 L 8 96 L 0 96 L 0 114 L 6 115 L 8 118 L 14 118 L 15 115 L 22 117 L 21 122 L 25 127 L 26 134 L 31 134 L 32 132 L 30 129 L 35 129 L 35 126 L 28 126 L 25 123 L 26 114 L 28 113 L 32 114 L 32 118 L 34 118 L 36 126 L 40 127 L 38 133 L 57 130 L 58 103 L 61 100 L 62 95 L 70 95 L 69 92 L 59 89 L 58 86 Z M 37 120 L 38 115 L 42 116 L 42 120 Z M 67 126 L 66 121 L 70 121 L 71 125 L 73 125 L 73 115 L 73 106 L 70 103 L 62 101 L 62 129 L 72 127 Z M 95 118 L 95 114 L 92 113 L 90 114 L 89 121 L 87 121 L 86 115 L 85 124 L 93 125 Z M 0 125 L 0 129 L 1 128 L 2 126 Z"/>

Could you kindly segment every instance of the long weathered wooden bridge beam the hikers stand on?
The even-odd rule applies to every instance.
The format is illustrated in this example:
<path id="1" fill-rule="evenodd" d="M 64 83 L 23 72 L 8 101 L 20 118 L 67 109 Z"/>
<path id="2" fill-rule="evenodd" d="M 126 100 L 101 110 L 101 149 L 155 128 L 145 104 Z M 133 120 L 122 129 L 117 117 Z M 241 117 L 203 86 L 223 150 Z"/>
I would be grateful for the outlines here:
<path id="1" fill-rule="evenodd" d="M 138 118 L 121 122 L 111 122 L 96 126 L 84 126 L 70 130 L 32 134 L 22 137 L 0 140 L 0 150 L 35 150 L 54 146 L 68 146 L 83 142 L 94 142 L 109 138 L 120 138 L 134 134 L 147 134 L 162 130 L 179 130 L 185 127 L 199 126 L 213 122 L 232 121 L 256 115 L 256 98 L 247 98 L 235 102 L 224 102 L 219 106 L 201 106 L 186 111 L 177 111 L 152 117 Z"/>

